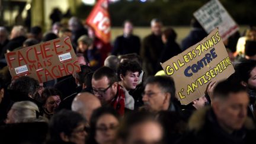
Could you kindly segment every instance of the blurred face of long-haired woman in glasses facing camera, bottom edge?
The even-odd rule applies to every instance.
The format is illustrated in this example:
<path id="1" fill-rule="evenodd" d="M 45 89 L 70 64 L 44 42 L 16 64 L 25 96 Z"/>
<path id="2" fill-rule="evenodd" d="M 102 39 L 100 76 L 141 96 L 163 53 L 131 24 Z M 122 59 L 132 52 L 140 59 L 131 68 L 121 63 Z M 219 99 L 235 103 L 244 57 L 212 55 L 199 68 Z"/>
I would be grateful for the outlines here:
<path id="1" fill-rule="evenodd" d="M 96 123 L 95 140 L 97 143 L 113 143 L 119 121 L 112 114 L 104 114 Z"/>

